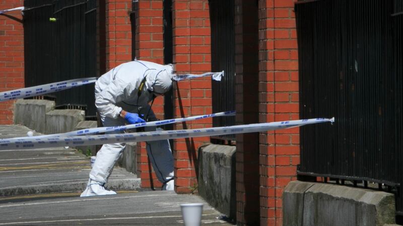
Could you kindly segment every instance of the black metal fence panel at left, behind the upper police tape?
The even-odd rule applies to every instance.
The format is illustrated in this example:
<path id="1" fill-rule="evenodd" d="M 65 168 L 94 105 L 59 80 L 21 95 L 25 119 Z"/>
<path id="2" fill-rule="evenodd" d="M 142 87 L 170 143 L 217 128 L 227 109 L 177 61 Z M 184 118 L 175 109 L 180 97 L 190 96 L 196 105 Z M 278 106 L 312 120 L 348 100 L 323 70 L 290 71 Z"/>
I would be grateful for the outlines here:
<path id="1" fill-rule="evenodd" d="M 25 0 L 24 6 L 26 87 L 98 76 L 95 0 Z M 93 84 L 51 95 L 58 108 L 95 116 Z"/>

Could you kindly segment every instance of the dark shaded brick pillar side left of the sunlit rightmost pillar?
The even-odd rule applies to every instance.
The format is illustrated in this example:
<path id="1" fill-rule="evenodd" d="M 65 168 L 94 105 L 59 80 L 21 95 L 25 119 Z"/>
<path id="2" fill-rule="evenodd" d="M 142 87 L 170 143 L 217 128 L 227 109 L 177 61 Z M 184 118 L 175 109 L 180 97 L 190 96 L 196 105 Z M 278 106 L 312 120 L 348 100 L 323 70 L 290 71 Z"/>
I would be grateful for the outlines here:
<path id="1" fill-rule="evenodd" d="M 235 1 L 236 123 L 258 123 L 258 17 L 255 1 Z M 238 225 L 259 224 L 259 133 L 236 135 Z"/>

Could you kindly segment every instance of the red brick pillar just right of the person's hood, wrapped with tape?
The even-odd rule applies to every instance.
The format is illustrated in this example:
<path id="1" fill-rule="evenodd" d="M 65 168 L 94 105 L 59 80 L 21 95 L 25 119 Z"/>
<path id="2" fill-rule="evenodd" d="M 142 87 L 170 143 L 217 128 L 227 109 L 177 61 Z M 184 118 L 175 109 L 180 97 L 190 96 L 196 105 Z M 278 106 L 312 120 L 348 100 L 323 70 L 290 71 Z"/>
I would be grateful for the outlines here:
<path id="1" fill-rule="evenodd" d="M 176 73 L 204 73 L 211 70 L 209 3 L 205 0 L 173 1 L 173 62 Z M 210 114 L 211 78 L 175 83 L 174 116 Z M 176 130 L 212 126 L 212 120 L 175 125 Z M 197 185 L 197 149 L 209 137 L 174 140 L 175 190 L 188 193 Z"/>

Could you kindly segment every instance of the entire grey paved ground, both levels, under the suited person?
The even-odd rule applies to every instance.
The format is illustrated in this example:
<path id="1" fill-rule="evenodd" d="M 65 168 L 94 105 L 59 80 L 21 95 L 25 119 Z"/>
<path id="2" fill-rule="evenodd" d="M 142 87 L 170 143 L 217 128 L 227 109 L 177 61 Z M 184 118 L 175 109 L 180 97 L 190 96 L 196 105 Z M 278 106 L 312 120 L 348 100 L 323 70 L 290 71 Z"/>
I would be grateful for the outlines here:
<path id="1" fill-rule="evenodd" d="M 28 131 L 0 126 L 0 139 Z M 202 225 L 232 225 L 199 196 L 142 190 L 140 179 L 120 167 L 106 185 L 117 195 L 79 197 L 89 171 L 89 157 L 75 149 L 0 151 L 0 226 L 183 225 L 180 204 L 195 202 L 204 203 Z"/>

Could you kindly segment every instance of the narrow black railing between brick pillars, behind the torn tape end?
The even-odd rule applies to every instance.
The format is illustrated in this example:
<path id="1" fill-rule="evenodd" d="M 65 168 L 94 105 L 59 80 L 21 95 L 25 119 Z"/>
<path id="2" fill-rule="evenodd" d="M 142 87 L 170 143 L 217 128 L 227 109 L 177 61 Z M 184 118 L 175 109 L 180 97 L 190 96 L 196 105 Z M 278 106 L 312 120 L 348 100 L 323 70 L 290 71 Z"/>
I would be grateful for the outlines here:
<path id="1" fill-rule="evenodd" d="M 234 1 L 210 0 L 212 71 L 225 71 L 220 82 L 212 81 L 213 112 L 235 109 Z M 213 126 L 233 126 L 235 117 L 215 117 Z M 220 136 L 235 140 L 235 135 Z"/>

